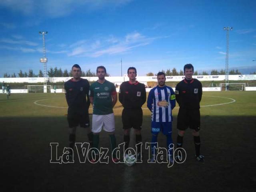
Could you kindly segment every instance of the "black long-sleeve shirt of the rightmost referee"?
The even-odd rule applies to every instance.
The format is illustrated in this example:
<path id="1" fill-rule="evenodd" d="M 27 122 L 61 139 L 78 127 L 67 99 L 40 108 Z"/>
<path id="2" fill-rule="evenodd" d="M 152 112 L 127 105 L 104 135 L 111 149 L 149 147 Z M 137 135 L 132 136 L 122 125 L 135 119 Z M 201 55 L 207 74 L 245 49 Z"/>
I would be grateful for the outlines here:
<path id="1" fill-rule="evenodd" d="M 184 79 L 176 85 L 175 94 L 180 108 L 198 109 L 202 99 L 202 83 L 197 79 Z"/>

